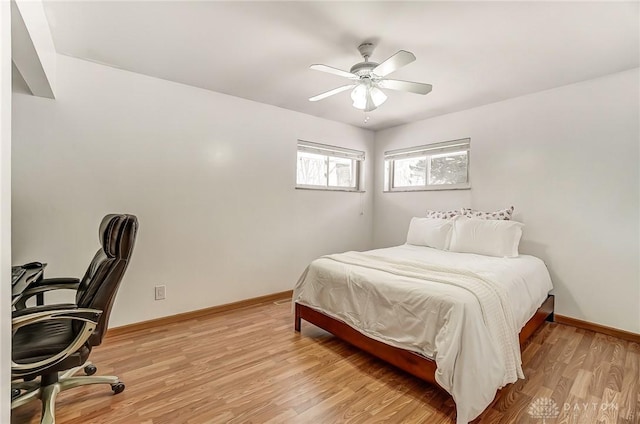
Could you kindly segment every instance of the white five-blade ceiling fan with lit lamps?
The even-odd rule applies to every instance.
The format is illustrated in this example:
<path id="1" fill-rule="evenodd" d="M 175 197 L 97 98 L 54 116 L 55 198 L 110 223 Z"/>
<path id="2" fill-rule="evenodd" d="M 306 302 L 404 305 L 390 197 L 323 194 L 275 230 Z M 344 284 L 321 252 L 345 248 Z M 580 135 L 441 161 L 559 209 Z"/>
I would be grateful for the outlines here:
<path id="1" fill-rule="evenodd" d="M 382 63 L 369 62 L 369 57 L 371 57 L 374 47 L 373 43 L 360 44 L 358 50 L 364 58 L 364 62 L 356 63 L 349 72 L 327 65 L 311 65 L 311 69 L 349 78 L 352 82 L 310 97 L 309 101 L 317 102 L 334 94 L 353 89 L 351 91 L 353 107 L 369 112 L 378 108 L 387 100 L 387 96 L 380 90 L 381 88 L 416 94 L 428 94 L 431 92 L 431 84 L 385 78 L 390 73 L 416 60 L 413 53 L 400 50 Z"/>

